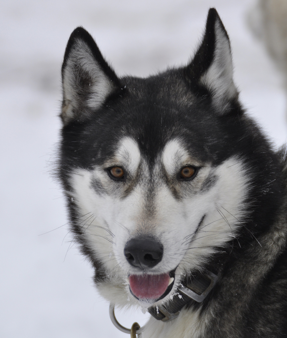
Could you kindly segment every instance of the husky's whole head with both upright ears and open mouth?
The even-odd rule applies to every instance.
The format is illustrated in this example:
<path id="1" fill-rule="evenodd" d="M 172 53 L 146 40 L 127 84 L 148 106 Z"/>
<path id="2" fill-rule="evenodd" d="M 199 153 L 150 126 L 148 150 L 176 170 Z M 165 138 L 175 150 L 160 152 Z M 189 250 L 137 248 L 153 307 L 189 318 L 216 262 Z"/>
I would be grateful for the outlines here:
<path id="1" fill-rule="evenodd" d="M 75 239 L 107 299 L 162 304 L 250 215 L 258 155 L 227 33 L 211 9 L 189 65 L 118 78 L 77 28 L 62 75 L 59 175 Z"/>

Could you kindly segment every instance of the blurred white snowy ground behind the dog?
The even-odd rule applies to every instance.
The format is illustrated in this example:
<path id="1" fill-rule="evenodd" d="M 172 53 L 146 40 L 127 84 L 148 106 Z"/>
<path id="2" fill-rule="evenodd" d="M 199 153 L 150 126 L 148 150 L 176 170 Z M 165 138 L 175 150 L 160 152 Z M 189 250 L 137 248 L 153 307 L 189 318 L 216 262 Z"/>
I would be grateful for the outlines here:
<path id="1" fill-rule="evenodd" d="M 187 62 L 215 6 L 230 35 L 242 101 L 279 145 L 287 135 L 282 79 L 246 26 L 251 3 L 2 0 L 1 337 L 128 337 L 111 324 L 89 265 L 70 244 L 62 194 L 49 176 L 69 34 L 83 25 L 119 74 L 147 75 Z M 145 316 L 118 317 L 130 327 Z"/>

